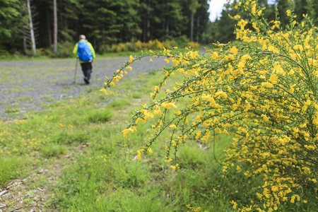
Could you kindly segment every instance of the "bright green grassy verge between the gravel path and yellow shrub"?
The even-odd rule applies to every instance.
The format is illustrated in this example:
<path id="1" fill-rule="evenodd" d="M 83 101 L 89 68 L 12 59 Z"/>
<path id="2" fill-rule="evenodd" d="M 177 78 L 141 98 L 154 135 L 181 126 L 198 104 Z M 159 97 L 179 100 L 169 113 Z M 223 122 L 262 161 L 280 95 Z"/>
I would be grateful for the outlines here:
<path id="1" fill-rule="evenodd" d="M 7 189 L 11 195 L 0 199 L 4 209 L 232 211 L 230 199 L 242 198 L 237 191 L 248 193 L 251 182 L 234 172 L 223 177 L 218 160 L 229 143 L 227 136 L 219 136 L 215 145 L 189 141 L 180 146 L 178 172 L 164 162 L 168 134 L 141 160 L 136 160 L 136 151 L 146 144 L 151 126 L 141 125 L 138 134 L 122 137 L 124 120 L 146 101 L 158 78 L 153 71 L 122 81 L 113 90 L 118 95 L 93 90 L 46 105 L 23 120 L 2 123 L 0 185 L 6 190 L 15 184 Z M 232 183 L 237 180 L 242 181 L 239 187 Z"/>

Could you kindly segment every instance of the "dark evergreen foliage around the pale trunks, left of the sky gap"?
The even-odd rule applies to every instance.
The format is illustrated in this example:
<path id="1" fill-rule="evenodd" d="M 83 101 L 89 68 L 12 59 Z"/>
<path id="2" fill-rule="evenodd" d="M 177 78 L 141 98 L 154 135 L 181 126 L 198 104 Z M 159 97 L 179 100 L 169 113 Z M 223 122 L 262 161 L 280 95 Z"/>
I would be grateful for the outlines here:
<path id="1" fill-rule="evenodd" d="M 0 49 L 10 53 L 23 52 L 19 29 L 28 28 L 28 22 L 21 21 L 27 14 L 26 0 L 21 1 L 20 6 L 15 3 L 16 0 L 0 0 L 0 35 L 3 38 Z M 48 49 L 53 44 L 53 1 L 33 0 L 30 4 L 37 48 Z M 59 43 L 73 43 L 78 35 L 84 34 L 95 49 L 119 42 L 172 40 L 182 36 L 189 41 L 192 13 L 193 40 L 197 42 L 208 23 L 206 0 L 59 0 L 57 37 Z"/>

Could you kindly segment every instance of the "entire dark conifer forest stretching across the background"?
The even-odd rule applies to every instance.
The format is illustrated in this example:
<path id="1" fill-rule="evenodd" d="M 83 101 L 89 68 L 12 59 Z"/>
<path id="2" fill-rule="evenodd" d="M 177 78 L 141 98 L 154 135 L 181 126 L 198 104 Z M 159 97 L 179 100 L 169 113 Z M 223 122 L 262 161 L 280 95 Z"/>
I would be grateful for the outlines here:
<path id="1" fill-rule="evenodd" d="M 268 20 L 278 18 L 282 25 L 288 24 L 284 13 L 288 6 L 298 20 L 303 13 L 318 17 L 316 0 L 259 0 L 259 4 L 266 7 Z M 234 5 L 226 4 L 212 23 L 208 8 L 213 0 L 0 0 L 0 55 L 35 54 L 35 49 L 56 53 L 60 47 L 73 46 L 80 34 L 100 54 L 119 42 L 138 40 L 229 42 L 235 40 Z"/>

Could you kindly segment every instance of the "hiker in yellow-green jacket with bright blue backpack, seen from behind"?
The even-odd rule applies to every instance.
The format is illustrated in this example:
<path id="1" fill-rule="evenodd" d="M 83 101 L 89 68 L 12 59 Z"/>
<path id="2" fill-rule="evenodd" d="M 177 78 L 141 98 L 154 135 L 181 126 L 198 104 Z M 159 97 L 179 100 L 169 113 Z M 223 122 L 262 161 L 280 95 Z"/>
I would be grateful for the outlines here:
<path id="1" fill-rule="evenodd" d="M 90 83 L 90 73 L 92 73 L 92 63 L 96 57 L 93 46 L 86 40 L 85 35 L 79 36 L 79 41 L 76 43 L 73 54 L 78 57 L 84 74 L 86 84 Z"/>

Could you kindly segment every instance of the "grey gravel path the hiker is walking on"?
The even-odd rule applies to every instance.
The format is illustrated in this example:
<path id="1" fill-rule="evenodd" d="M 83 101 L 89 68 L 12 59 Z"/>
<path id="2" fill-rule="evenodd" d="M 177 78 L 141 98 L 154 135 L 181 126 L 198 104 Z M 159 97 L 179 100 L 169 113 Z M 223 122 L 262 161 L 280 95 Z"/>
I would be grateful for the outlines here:
<path id="1" fill-rule="evenodd" d="M 138 73 L 167 66 L 164 58 L 148 58 L 136 61 L 129 71 L 129 77 Z M 0 121 L 16 119 L 9 114 L 24 114 L 28 110 L 41 110 L 45 103 L 52 103 L 64 98 L 73 98 L 88 89 L 102 88 L 105 76 L 122 66 L 129 57 L 98 58 L 93 62 L 93 74 L 90 85 L 83 81 L 81 65 L 74 73 L 76 59 L 48 59 L 32 61 L 0 61 Z"/>

